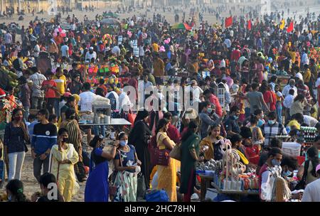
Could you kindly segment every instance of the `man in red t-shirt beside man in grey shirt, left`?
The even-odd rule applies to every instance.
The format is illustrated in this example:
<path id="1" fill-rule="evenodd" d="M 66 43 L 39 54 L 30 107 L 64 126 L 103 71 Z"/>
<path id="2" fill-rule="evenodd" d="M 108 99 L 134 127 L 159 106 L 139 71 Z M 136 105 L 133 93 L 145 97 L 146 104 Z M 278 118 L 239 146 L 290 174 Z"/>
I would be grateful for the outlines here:
<path id="1" fill-rule="evenodd" d="M 44 90 L 45 92 L 46 108 L 48 109 L 50 114 L 53 114 L 53 107 L 56 101 L 59 103 L 58 98 L 55 97 L 55 92 L 58 92 L 58 89 L 57 89 L 57 84 L 52 79 L 53 72 L 48 70 L 46 75 L 48 80 L 43 80 L 41 85 L 41 90 Z"/>

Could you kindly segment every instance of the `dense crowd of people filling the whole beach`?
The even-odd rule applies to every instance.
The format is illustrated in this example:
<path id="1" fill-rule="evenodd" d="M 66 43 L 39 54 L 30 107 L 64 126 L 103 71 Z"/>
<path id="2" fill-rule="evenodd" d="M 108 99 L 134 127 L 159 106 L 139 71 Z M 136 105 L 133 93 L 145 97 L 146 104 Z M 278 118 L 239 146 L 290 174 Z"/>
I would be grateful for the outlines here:
<path id="1" fill-rule="evenodd" d="M 281 141 L 274 138 L 289 134 L 297 141 L 302 126 L 320 131 L 320 16 L 282 19 L 284 26 L 274 18 L 277 13 L 260 19 L 253 11 L 224 28 L 193 16 L 185 23 L 192 28 L 188 31 L 171 28 L 156 16 L 133 16 L 106 33 L 99 16 L 84 22 L 68 16 L 68 31 L 57 20 L 37 19 L 22 26 L 21 41 L 6 32 L 1 68 L 18 80 L 12 85 L 1 71 L 0 97 L 9 100 L 12 111 L 1 146 L 8 199 L 28 200 L 21 172 L 31 149 L 41 193 L 30 200 L 50 200 L 48 184 L 58 182 L 53 200 L 71 201 L 78 182 L 86 181 L 87 202 L 137 201 L 142 188 L 164 189 L 169 201 L 188 202 L 201 190 L 197 163 L 221 160 L 219 146 L 229 139 L 245 167 L 259 175 L 260 200 L 274 200 L 265 197 L 262 185 L 270 181 L 270 168 L 279 166 L 284 179 L 299 170 L 306 190 L 294 198 L 320 201 L 320 134 L 301 166 L 282 153 Z M 43 71 L 41 53 L 48 54 L 52 68 Z M 104 64 L 110 70 L 98 75 Z M 181 95 L 174 93 L 180 89 L 190 101 L 181 104 Z M 130 131 L 117 133 L 109 151 L 104 127 L 79 124 L 97 97 L 110 100 L 113 118 L 132 122 Z M 144 105 L 138 106 L 141 98 Z M 36 116 L 30 114 L 34 109 Z M 1 119 L 6 113 L 1 112 Z M 90 163 L 82 151 L 83 136 L 92 148 Z M 169 154 L 177 145 L 181 161 L 156 161 L 156 153 Z M 90 166 L 88 176 L 85 166 Z M 4 175 L 0 177 L 3 184 Z"/>

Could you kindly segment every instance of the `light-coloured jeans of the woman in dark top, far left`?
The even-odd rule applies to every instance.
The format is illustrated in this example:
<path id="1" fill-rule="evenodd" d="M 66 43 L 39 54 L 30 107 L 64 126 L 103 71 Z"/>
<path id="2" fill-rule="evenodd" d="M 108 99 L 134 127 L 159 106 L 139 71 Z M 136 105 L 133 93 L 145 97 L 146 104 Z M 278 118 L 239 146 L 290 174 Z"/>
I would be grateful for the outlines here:
<path id="1" fill-rule="evenodd" d="M 9 153 L 9 176 L 8 180 L 12 179 L 21 179 L 21 170 L 23 166 L 24 156 L 26 156 L 26 152 L 14 152 Z"/>

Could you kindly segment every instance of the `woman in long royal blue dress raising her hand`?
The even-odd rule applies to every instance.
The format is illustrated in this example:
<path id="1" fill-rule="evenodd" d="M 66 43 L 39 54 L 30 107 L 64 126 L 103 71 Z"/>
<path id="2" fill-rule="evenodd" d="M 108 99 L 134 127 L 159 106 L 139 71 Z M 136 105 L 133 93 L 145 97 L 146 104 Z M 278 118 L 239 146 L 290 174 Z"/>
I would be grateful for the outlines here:
<path id="1" fill-rule="evenodd" d="M 116 141 L 111 153 L 103 151 L 103 136 L 95 136 L 89 144 L 93 150 L 90 157 L 90 174 L 85 184 L 85 202 L 108 202 L 109 200 L 109 166 L 119 146 Z"/>

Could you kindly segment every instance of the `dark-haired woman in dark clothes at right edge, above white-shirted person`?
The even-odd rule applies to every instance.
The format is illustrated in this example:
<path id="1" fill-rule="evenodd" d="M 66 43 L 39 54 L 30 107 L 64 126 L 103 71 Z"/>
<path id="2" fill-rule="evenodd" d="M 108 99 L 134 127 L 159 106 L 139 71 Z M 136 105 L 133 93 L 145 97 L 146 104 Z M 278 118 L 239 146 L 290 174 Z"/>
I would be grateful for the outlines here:
<path id="1" fill-rule="evenodd" d="M 306 151 L 307 160 L 302 163 L 298 171 L 298 178 L 305 182 L 304 187 L 316 180 L 316 166 L 319 164 L 319 150 L 316 146 L 311 146 Z M 306 171 L 304 170 L 306 168 Z"/>

